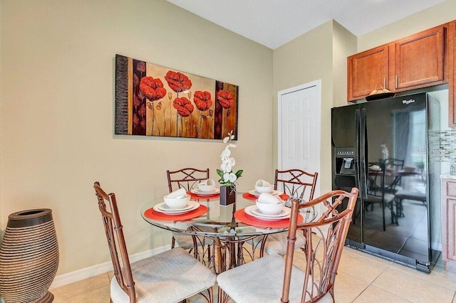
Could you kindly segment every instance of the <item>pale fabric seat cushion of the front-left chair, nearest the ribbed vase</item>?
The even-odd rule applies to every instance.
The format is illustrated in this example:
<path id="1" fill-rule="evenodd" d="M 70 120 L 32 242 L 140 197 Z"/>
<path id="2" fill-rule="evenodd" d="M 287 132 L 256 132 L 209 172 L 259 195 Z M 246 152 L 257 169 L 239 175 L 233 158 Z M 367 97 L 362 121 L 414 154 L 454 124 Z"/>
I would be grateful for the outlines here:
<path id="1" fill-rule="evenodd" d="M 131 265 L 137 302 L 180 302 L 212 287 L 215 275 L 183 248 L 173 248 Z M 113 303 L 129 302 L 115 277 L 111 280 Z"/>

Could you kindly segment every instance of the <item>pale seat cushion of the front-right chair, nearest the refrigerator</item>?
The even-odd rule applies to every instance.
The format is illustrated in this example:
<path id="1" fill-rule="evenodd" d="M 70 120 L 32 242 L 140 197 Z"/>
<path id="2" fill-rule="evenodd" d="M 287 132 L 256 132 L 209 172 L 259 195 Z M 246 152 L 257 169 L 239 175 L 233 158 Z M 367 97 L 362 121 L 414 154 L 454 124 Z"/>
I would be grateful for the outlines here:
<path id="1" fill-rule="evenodd" d="M 234 302 L 276 303 L 280 302 L 282 294 L 284 268 L 283 257 L 267 255 L 222 272 L 217 276 L 217 283 Z M 304 272 L 293 266 L 289 302 L 301 302 L 303 283 Z M 333 298 L 328 293 L 318 302 L 333 302 Z"/>

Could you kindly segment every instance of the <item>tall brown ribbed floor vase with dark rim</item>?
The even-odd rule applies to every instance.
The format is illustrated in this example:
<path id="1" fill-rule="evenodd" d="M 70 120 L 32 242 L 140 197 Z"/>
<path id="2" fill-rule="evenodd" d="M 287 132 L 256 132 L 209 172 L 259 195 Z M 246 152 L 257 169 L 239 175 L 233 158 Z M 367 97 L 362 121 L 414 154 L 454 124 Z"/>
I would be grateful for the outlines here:
<path id="1" fill-rule="evenodd" d="M 58 243 L 48 208 L 11 213 L 0 245 L 0 295 L 5 303 L 52 302 Z"/>

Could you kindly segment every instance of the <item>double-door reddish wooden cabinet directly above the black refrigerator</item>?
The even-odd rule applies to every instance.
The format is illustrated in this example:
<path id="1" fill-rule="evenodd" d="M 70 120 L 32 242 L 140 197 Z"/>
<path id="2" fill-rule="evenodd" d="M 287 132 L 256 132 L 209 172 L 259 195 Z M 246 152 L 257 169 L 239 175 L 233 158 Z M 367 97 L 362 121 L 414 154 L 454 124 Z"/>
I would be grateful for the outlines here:
<path id="1" fill-rule="evenodd" d="M 448 23 L 347 58 L 348 101 L 369 95 L 375 86 L 391 92 L 448 82 L 445 36 Z"/>

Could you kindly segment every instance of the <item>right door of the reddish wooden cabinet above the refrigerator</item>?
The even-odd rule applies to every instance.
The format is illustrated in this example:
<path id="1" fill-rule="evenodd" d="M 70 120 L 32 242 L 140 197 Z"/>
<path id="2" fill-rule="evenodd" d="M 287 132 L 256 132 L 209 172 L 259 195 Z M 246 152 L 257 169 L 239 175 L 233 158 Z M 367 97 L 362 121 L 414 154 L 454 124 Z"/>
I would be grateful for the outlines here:
<path id="1" fill-rule="evenodd" d="M 395 41 L 395 90 L 443 83 L 445 27 Z"/>

